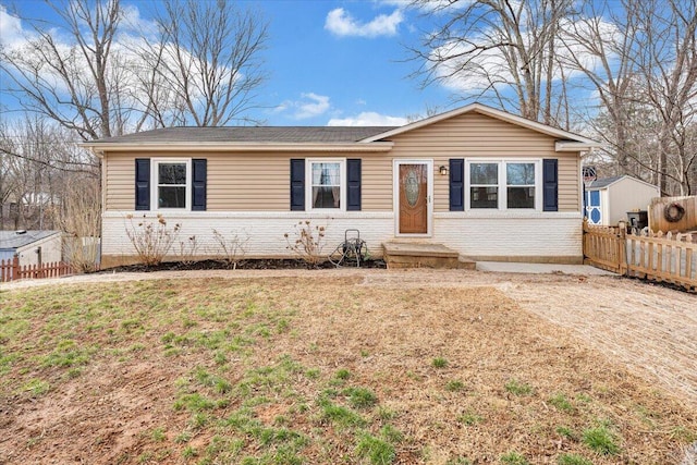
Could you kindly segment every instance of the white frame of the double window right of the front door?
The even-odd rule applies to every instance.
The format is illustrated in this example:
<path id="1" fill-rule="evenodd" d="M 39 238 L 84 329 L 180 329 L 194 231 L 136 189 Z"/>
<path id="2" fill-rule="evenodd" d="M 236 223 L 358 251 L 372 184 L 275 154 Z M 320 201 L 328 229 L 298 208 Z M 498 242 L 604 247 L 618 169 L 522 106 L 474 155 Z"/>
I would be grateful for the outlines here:
<path id="1" fill-rule="evenodd" d="M 498 208 L 472 208 L 472 182 L 469 180 L 469 166 L 472 163 L 492 163 L 498 164 L 499 174 L 499 201 Z M 508 208 L 508 179 L 506 179 L 506 164 L 508 163 L 534 163 L 535 164 L 535 208 Z M 465 211 L 542 211 L 542 159 L 541 158 L 467 158 L 465 159 Z"/>

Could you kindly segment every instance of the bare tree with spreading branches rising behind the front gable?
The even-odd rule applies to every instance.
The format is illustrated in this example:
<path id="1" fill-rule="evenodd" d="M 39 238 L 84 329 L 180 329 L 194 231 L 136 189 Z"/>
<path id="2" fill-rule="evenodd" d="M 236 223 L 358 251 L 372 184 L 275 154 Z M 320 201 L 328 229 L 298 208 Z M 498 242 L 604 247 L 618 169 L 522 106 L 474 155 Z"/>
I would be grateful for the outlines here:
<path id="1" fill-rule="evenodd" d="M 428 8 L 429 0 L 416 0 Z M 413 48 L 423 61 L 418 73 L 425 84 L 442 83 L 460 91 L 477 90 L 503 108 L 514 107 L 534 121 L 565 126 L 564 87 L 557 59 L 557 36 L 572 5 L 570 0 L 476 0 L 465 7 L 437 2 L 445 21 L 428 33 L 421 48 Z M 513 89 L 515 101 L 505 90 Z"/>

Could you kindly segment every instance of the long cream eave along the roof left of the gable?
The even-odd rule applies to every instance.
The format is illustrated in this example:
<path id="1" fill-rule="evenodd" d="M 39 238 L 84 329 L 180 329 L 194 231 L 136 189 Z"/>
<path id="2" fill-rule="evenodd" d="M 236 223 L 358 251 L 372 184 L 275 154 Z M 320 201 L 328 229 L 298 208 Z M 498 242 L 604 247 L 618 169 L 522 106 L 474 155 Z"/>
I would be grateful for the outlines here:
<path id="1" fill-rule="evenodd" d="M 392 142 L 376 143 L 99 143 L 86 142 L 80 144 L 90 149 L 98 157 L 106 151 L 390 151 L 394 147 Z"/>

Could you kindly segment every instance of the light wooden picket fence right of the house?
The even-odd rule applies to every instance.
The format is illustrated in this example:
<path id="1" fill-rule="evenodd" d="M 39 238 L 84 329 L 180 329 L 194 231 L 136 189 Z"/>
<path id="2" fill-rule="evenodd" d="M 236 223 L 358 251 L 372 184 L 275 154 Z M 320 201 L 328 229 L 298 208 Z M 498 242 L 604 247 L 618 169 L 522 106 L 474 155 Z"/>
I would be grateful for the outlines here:
<path id="1" fill-rule="evenodd" d="M 584 221 L 584 262 L 619 274 L 697 290 L 697 234 L 663 234 Z"/>

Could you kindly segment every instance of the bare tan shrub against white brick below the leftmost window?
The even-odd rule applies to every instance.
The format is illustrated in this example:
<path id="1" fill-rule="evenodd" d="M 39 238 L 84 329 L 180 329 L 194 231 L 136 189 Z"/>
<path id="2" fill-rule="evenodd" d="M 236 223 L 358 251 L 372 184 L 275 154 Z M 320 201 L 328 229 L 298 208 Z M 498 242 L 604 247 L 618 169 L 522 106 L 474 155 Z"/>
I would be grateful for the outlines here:
<path id="1" fill-rule="evenodd" d="M 147 266 L 161 264 L 182 225 L 176 223 L 173 228 L 168 228 L 162 215 L 157 216 L 155 223 L 145 216 L 137 224 L 134 223 L 132 215 L 126 219 L 130 221 L 130 224 L 126 224 L 126 235 L 138 254 L 140 262 Z"/>

